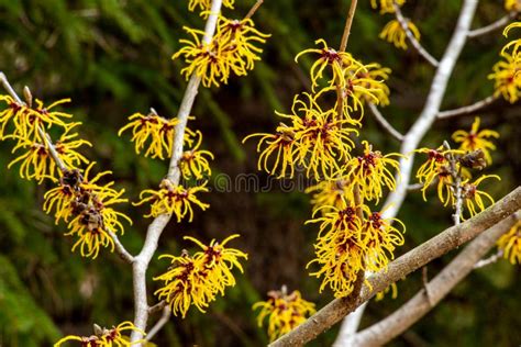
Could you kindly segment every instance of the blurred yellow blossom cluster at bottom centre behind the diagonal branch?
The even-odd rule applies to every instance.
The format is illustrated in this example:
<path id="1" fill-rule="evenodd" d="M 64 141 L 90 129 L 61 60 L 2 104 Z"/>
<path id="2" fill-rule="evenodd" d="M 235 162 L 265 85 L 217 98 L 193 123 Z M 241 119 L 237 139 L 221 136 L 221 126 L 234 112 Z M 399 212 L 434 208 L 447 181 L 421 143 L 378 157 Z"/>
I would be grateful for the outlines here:
<path id="1" fill-rule="evenodd" d="M 313 303 L 303 300 L 297 290 L 288 294 L 285 286 L 281 290 L 269 291 L 268 300 L 253 305 L 253 310 L 257 309 L 260 309 L 257 316 L 258 326 L 262 327 L 264 321 L 268 320 L 270 340 L 289 333 L 315 313 Z"/>

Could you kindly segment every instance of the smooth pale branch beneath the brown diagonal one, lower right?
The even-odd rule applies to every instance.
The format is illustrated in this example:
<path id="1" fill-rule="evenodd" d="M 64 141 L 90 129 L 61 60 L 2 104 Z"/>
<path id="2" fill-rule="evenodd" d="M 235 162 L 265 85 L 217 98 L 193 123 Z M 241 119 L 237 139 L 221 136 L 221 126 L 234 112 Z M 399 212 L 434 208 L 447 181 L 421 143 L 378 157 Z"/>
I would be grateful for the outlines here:
<path id="1" fill-rule="evenodd" d="M 423 317 L 448 292 L 474 269 L 474 265 L 494 247 L 497 239 L 521 217 L 521 211 L 502 220 L 474 239 L 451 264 L 448 264 L 425 289 L 377 324 L 353 336 L 350 346 L 381 346 L 400 335 Z"/>

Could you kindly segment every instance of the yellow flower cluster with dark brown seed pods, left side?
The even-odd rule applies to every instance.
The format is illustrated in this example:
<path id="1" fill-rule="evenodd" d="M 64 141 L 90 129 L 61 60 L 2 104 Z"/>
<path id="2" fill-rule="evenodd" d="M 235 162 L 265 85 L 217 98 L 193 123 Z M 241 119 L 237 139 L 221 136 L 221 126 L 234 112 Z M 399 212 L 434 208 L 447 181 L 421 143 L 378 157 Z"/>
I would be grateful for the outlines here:
<path id="1" fill-rule="evenodd" d="M 84 174 L 78 169 L 64 171 L 58 187 L 45 193 L 43 209 L 54 213 L 56 224 L 59 221 L 68 223 L 69 231 L 65 235 L 78 238 L 73 251 L 79 248 L 81 256 L 95 259 L 101 247 L 114 250 L 111 234 L 124 233 L 120 220 L 126 220 L 130 224 L 132 221 L 112 209 L 113 204 L 128 201 L 122 198 L 124 189 L 113 189 L 113 182 L 99 184 L 100 178 L 110 171 L 89 178 L 93 165 L 89 165 Z"/>

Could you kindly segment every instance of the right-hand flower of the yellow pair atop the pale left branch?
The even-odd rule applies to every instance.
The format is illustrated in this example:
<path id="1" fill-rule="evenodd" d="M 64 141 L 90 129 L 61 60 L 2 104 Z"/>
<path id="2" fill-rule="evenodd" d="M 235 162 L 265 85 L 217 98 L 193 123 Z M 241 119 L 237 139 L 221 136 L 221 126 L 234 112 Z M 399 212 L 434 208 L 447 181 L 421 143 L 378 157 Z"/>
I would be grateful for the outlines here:
<path id="1" fill-rule="evenodd" d="M 246 69 L 252 70 L 255 61 L 260 60 L 259 54 L 263 53 L 263 49 L 254 43 L 264 44 L 269 36 L 271 35 L 256 30 L 251 19 L 240 21 L 219 16 L 217 35 L 213 40 L 221 44 L 230 43 L 229 47 L 234 55 L 235 64 L 244 64 Z"/>

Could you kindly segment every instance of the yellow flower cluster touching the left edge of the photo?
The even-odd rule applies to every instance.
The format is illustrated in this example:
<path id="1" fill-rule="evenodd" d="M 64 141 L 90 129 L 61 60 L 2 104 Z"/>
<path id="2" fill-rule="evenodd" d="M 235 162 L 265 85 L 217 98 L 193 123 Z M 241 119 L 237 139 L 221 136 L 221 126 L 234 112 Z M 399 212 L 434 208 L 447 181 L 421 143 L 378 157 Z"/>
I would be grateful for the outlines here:
<path id="1" fill-rule="evenodd" d="M 76 152 L 84 145 L 91 146 L 89 142 L 76 138 L 78 134 L 73 132 L 81 123 L 67 123 L 66 120 L 73 115 L 53 110 L 69 101 L 69 99 L 63 99 L 44 107 L 43 102 L 36 99 L 36 105 L 32 107 L 30 96 L 27 102 L 24 103 L 10 96 L 0 96 L 0 102 L 4 102 L 7 107 L 0 111 L 0 139 L 16 142 L 12 152 L 22 152 L 22 154 L 8 167 L 11 168 L 20 163 L 22 178 L 34 179 L 38 183 L 42 183 L 44 179 L 57 181 L 63 174 L 56 165 L 57 159 L 67 168 L 78 168 L 80 164 L 89 163 L 86 157 Z M 63 134 L 55 144 L 52 144 L 45 133 L 52 126 L 63 128 Z M 51 146 L 54 146 L 54 154 Z"/>

